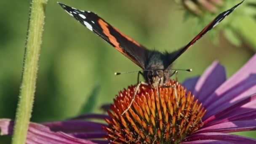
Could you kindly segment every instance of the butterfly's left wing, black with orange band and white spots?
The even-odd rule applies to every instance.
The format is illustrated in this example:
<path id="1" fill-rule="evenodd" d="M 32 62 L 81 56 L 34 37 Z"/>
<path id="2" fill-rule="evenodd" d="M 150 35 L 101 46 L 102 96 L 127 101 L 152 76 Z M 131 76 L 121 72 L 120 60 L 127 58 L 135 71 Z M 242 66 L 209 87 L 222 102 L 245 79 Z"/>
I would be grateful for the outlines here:
<path id="1" fill-rule="evenodd" d="M 117 28 L 112 27 L 95 13 L 90 11 L 80 11 L 62 3 L 59 3 L 59 5 L 89 30 L 106 40 L 117 49 L 117 51 L 123 53 L 123 55 L 131 59 L 131 61 L 142 69 L 145 69 L 146 56 L 149 50 L 143 45 L 124 35 Z"/>

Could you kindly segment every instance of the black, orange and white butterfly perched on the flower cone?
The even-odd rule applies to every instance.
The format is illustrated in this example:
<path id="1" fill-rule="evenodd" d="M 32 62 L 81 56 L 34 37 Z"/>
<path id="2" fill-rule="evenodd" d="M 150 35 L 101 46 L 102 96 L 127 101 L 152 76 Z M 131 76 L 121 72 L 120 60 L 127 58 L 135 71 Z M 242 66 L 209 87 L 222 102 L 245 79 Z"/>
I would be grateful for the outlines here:
<path id="1" fill-rule="evenodd" d="M 203 35 L 205 35 L 209 30 L 219 24 L 219 22 L 221 22 L 226 16 L 232 13 L 232 11 L 234 11 L 235 8 L 242 4 L 243 1 L 230 8 L 229 10 L 220 13 L 187 45 L 171 53 L 161 53 L 156 50 L 147 49 L 137 41 L 120 32 L 117 28 L 112 27 L 107 21 L 91 11 L 81 11 L 76 8 L 64 5 L 62 3 L 59 3 L 59 5 L 61 5 L 61 7 L 65 11 L 67 11 L 69 15 L 73 16 L 75 19 L 77 19 L 77 21 L 79 21 L 93 33 L 107 41 L 110 45 L 117 49 L 117 51 L 128 57 L 128 59 L 130 59 L 139 67 L 141 67 L 141 69 L 143 69 L 141 71 L 138 71 L 138 80 L 139 74 L 141 74 L 143 75 L 145 82 L 140 82 L 136 86 L 133 96 L 134 100 L 135 95 L 141 84 L 150 85 L 153 88 L 156 88 L 158 96 L 158 87 L 173 87 L 165 85 L 166 83 L 168 83 L 170 77 L 173 75 L 173 72 L 171 72 L 173 61 L 181 56 L 182 53 L 184 53 L 197 40 L 203 37 Z M 175 86 L 173 88 L 175 88 Z M 131 107 L 133 100 L 131 101 L 128 108 L 123 112 L 123 114 Z"/>

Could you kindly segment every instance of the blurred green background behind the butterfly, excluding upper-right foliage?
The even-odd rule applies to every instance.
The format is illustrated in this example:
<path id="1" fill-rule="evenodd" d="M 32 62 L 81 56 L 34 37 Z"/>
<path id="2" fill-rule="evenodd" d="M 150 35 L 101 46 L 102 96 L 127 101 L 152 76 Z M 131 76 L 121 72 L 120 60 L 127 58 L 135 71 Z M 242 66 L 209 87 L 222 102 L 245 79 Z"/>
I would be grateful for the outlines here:
<path id="1" fill-rule="evenodd" d="M 184 10 L 173 0 L 60 2 L 93 11 L 147 48 L 159 51 L 174 51 L 187 44 L 197 27 L 195 19 L 184 22 Z M 0 117 L 15 117 L 28 13 L 29 0 L 0 1 Z M 190 73 L 179 72 L 182 82 L 187 77 L 201 75 L 209 64 L 219 60 L 230 77 L 252 55 L 248 45 L 236 47 L 220 32 L 219 43 L 212 43 L 206 35 L 180 56 L 174 67 L 193 69 Z M 101 104 L 111 103 L 118 91 L 136 83 L 136 73 L 115 76 L 114 72 L 139 69 L 75 21 L 56 0 L 49 0 L 31 120 L 64 120 L 79 115 L 91 94 L 90 103 L 95 104 L 92 111 L 102 113 Z M 255 132 L 242 134 L 256 138 Z M 3 139 L 9 137 L 0 137 L 0 142 Z"/>

